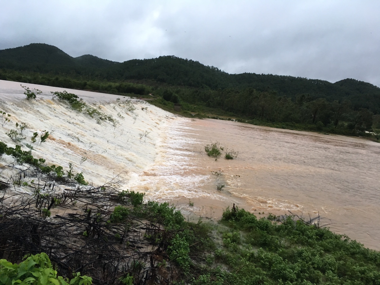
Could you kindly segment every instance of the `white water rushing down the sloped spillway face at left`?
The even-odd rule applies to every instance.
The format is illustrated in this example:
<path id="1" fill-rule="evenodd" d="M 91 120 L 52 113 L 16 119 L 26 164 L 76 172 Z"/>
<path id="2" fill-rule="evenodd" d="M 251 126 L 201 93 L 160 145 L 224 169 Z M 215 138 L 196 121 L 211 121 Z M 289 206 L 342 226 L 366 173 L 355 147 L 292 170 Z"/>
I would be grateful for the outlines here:
<path id="1" fill-rule="evenodd" d="M 1 141 L 12 147 L 21 145 L 22 150 L 29 150 L 27 144 L 31 145 L 33 157 L 44 158 L 47 165 L 61 165 L 68 170 L 72 163 L 75 172 L 83 172 L 85 179 L 96 185 L 103 185 L 119 175 L 125 179 L 123 188 L 127 187 L 131 176 L 154 163 L 161 134 L 170 121 L 178 119 L 146 101 L 65 89 L 117 122 L 95 120 L 71 109 L 66 101 L 52 99 L 50 92 L 63 91 L 62 88 L 23 85 L 43 93 L 37 100 L 26 100 L 18 82 L 0 81 L 0 109 L 11 114 L 11 122 L 0 129 Z M 15 123 L 22 122 L 27 125 L 21 135 L 25 139 L 14 142 L 6 132 L 16 130 Z M 45 130 L 50 133 L 46 142 L 41 143 L 39 137 L 36 143 L 31 142 L 34 132 L 40 136 Z M 12 157 L 4 155 L 2 164 L 12 161 Z M 11 175 L 5 169 L 2 180 L 9 180 Z M 26 181 L 34 178 L 29 177 Z M 27 187 L 14 190 L 28 192 Z"/>

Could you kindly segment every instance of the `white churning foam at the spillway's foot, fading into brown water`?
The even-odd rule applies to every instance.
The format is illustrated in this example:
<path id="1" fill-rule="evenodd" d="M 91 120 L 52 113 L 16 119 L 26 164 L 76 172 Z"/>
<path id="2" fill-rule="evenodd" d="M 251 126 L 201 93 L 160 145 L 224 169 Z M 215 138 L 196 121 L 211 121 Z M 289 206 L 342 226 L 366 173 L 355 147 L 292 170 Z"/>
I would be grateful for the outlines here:
<path id="1" fill-rule="evenodd" d="M 210 184 L 209 175 L 196 174 L 194 159 L 199 154 L 186 150 L 186 146 L 195 144 L 196 140 L 184 136 L 183 130 L 193 130 L 185 125 L 189 119 L 177 119 L 171 123 L 161 139 L 160 152 L 154 165 L 142 175 L 132 175 L 128 186 L 145 192 L 148 199 L 170 201 L 178 199 L 212 198 L 226 200 L 217 193 L 204 191 Z"/>

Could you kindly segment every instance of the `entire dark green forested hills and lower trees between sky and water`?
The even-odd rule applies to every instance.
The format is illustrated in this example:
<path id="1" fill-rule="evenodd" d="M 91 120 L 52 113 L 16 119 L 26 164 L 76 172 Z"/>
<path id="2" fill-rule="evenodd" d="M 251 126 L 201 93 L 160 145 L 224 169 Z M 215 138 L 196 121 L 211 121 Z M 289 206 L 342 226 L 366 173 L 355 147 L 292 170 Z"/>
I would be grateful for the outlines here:
<path id="1" fill-rule="evenodd" d="M 216 108 L 310 130 L 319 124 L 319 129 L 340 127 L 354 134 L 370 130 L 373 122 L 375 128 L 380 126 L 380 88 L 370 83 L 228 74 L 174 55 L 121 63 L 88 54 L 74 58 L 55 46 L 29 44 L 0 50 L 0 79 L 139 96 L 154 93 L 187 111 Z"/>

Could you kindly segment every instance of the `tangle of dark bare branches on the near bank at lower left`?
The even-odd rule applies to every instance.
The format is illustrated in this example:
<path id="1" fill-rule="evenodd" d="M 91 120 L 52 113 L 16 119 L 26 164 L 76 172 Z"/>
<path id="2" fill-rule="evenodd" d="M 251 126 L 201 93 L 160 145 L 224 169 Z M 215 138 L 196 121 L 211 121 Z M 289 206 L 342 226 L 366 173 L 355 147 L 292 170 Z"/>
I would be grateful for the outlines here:
<path id="1" fill-rule="evenodd" d="M 71 277 L 79 271 L 98 284 L 120 283 L 127 274 L 135 284 L 175 282 L 180 269 L 165 263 L 173 233 L 133 211 L 123 222 L 110 222 L 114 207 L 124 203 L 118 186 L 111 181 L 56 194 L 54 184 L 45 182 L 32 185 L 35 195 L 4 192 L 0 258 L 14 263 L 28 253 L 46 252 L 60 275 Z M 47 217 L 50 211 L 53 215 Z"/>

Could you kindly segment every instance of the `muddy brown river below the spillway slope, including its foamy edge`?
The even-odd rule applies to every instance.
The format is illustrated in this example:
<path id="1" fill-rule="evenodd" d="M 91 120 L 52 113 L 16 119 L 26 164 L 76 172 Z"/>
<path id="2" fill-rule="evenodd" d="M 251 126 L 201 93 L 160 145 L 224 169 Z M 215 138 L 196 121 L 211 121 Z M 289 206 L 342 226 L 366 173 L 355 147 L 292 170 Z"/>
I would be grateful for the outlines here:
<path id="1" fill-rule="evenodd" d="M 217 161 L 208 157 L 204 146 L 215 141 L 238 151 L 238 157 Z M 304 217 L 319 212 L 325 217 L 321 223 L 331 223 L 332 231 L 380 250 L 377 142 L 222 120 L 179 119 L 166 133 L 161 149 L 155 165 L 130 185 L 146 192 L 147 198 L 171 201 L 185 213 L 215 219 L 233 203 L 258 217 L 269 212 L 291 211 Z M 217 185 L 223 184 L 218 191 Z"/>

